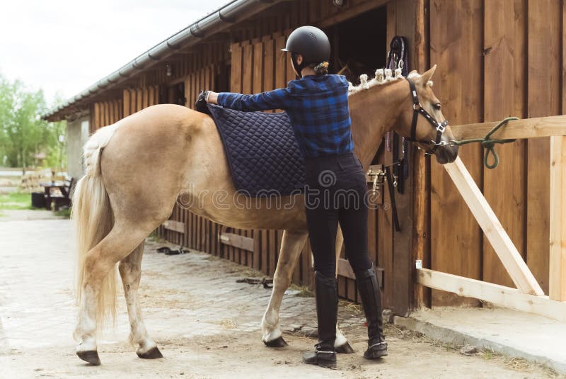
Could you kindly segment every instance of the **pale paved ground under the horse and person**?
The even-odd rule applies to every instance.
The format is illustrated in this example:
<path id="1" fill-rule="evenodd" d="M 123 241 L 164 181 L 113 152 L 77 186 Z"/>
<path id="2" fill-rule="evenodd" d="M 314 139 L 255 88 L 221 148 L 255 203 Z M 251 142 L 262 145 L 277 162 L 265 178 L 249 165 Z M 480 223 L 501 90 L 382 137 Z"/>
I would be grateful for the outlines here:
<path id="1" fill-rule="evenodd" d="M 361 357 L 364 319 L 359 307 L 340 306 L 342 327 L 357 353 L 340 355 L 337 370 L 301 363 L 316 342 L 313 298 L 289 290 L 282 327 L 289 346 L 263 346 L 260 320 L 270 296 L 261 285 L 236 283 L 260 273 L 190 251 L 165 256 L 147 242 L 141 305 L 164 359 L 137 358 L 122 298 L 116 326 L 99 339 L 103 366 L 85 365 L 71 338 L 76 317 L 74 257 L 69 220 L 43 211 L 0 217 L 0 378 L 548 378 L 538 366 L 478 353 L 463 356 L 421 334 L 386 327 L 390 356 Z"/>

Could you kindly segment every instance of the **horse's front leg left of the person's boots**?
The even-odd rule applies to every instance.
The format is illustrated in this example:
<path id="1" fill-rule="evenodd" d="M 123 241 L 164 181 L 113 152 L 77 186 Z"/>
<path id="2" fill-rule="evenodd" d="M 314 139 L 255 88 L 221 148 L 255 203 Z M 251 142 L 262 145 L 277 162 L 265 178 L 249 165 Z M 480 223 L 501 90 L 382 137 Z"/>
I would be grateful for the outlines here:
<path id="1" fill-rule="evenodd" d="M 261 322 L 263 343 L 270 347 L 287 346 L 279 327 L 279 309 L 285 290 L 291 284 L 296 261 L 301 255 L 308 232 L 306 230 L 284 230 L 281 251 L 273 276 L 273 289 L 270 303 Z"/>

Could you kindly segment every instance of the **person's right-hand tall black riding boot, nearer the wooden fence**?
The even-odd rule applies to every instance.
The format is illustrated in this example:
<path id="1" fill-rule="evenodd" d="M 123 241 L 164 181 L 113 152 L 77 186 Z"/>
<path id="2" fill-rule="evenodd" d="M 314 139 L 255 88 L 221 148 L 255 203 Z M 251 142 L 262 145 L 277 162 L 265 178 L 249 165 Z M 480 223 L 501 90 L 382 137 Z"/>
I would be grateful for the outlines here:
<path id="1" fill-rule="evenodd" d="M 387 355 L 387 343 L 383 337 L 383 315 L 381 315 L 381 292 L 372 264 L 367 270 L 357 272 L 356 281 L 367 320 L 368 348 L 364 358 L 376 359 Z"/>

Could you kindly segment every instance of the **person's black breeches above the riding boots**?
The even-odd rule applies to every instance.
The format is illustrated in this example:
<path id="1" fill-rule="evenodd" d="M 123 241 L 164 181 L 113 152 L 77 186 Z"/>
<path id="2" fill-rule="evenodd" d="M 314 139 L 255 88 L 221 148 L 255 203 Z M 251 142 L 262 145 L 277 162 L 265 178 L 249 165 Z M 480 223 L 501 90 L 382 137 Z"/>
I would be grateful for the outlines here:
<path id="1" fill-rule="evenodd" d="M 354 271 L 371 267 L 367 252 L 367 184 L 359 159 L 353 153 L 306 159 L 305 168 L 306 222 L 315 271 L 327 278 L 335 276 L 339 223 Z"/>

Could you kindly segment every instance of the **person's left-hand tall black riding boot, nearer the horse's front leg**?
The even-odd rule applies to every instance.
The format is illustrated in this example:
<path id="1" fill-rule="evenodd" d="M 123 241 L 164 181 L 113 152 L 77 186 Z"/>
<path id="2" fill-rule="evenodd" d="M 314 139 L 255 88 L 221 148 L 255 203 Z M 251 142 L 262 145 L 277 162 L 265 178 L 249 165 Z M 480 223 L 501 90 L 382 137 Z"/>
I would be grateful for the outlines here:
<path id="1" fill-rule="evenodd" d="M 314 352 L 303 355 L 304 363 L 322 367 L 336 367 L 336 321 L 338 293 L 336 278 L 314 273 L 316 290 L 316 317 L 318 318 L 318 344 Z"/>

